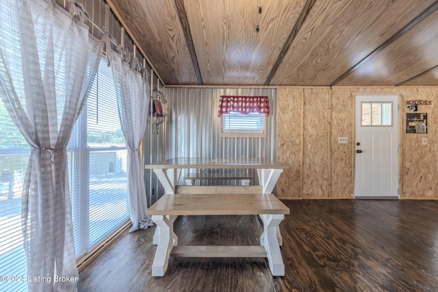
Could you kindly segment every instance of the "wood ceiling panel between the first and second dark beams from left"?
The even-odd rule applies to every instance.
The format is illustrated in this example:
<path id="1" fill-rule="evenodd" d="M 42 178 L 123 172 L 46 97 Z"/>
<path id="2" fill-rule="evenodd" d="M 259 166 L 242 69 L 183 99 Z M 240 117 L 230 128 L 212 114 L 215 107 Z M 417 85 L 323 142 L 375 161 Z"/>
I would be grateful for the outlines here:
<path id="1" fill-rule="evenodd" d="M 203 83 L 263 85 L 305 0 L 184 3 Z"/>

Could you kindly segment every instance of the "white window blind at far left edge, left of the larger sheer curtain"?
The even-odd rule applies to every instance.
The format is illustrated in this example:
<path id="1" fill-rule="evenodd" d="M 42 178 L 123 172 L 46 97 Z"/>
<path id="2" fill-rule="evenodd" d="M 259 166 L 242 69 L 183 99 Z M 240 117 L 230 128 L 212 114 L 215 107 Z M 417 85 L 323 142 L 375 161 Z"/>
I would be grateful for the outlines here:
<path id="1" fill-rule="evenodd" d="M 12 122 L 3 101 L 0 101 L 1 276 L 26 275 L 26 257 L 21 233 L 21 189 L 29 153 L 29 144 Z M 8 291 L 27 289 L 26 282 L 0 282 L 0 286 L 3 284 Z"/>

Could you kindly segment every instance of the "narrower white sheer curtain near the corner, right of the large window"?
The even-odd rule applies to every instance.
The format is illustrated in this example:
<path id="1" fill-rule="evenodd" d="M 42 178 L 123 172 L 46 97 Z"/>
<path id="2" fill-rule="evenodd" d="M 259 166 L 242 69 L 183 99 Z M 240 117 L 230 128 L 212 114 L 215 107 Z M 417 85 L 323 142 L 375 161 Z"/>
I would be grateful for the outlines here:
<path id="1" fill-rule="evenodd" d="M 130 57 L 125 62 L 125 57 L 122 59 L 118 53 L 111 52 L 118 116 L 128 148 L 129 215 L 132 222 L 129 232 L 153 226 L 151 216 L 146 215 L 144 167 L 140 155 L 149 107 L 149 84 L 131 65 L 134 66 L 135 62 Z"/>

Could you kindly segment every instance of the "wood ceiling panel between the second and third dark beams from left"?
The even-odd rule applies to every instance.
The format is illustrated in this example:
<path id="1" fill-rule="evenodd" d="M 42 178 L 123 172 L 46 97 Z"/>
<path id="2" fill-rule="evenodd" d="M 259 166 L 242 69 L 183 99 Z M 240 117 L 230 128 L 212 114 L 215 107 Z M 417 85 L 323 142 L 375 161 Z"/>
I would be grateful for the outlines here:
<path id="1" fill-rule="evenodd" d="M 270 85 L 331 85 L 434 2 L 316 1 Z"/>

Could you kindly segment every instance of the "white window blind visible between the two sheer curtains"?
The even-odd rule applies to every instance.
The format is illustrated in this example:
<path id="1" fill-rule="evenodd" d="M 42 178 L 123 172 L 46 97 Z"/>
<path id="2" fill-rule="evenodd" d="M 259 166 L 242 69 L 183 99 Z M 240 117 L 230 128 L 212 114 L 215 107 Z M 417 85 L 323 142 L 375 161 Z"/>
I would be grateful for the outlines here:
<path id="1" fill-rule="evenodd" d="M 112 70 L 104 59 L 68 150 L 75 248 L 81 256 L 129 218 L 127 149 Z"/>

